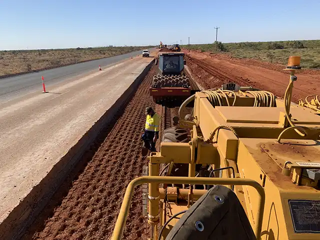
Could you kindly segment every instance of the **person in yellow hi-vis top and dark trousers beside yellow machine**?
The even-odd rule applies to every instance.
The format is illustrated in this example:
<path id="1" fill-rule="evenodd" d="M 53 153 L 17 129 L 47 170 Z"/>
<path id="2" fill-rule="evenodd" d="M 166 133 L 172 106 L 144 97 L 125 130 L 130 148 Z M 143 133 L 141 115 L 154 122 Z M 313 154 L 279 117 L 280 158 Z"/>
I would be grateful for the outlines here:
<path id="1" fill-rule="evenodd" d="M 144 133 L 142 134 L 143 147 L 142 155 L 147 155 L 148 150 L 156 151 L 155 142 L 159 138 L 160 117 L 152 107 L 145 108 L 146 120 Z"/>

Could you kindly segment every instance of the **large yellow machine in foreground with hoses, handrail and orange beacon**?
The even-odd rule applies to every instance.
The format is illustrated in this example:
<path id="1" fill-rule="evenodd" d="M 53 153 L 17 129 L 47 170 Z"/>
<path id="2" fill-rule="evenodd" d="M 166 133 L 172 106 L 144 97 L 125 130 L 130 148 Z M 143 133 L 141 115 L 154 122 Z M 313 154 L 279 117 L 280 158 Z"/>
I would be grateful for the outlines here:
<path id="1" fill-rule="evenodd" d="M 128 184 L 111 239 L 137 185 L 152 240 L 320 239 L 320 116 L 291 102 L 299 69 L 289 57 L 283 99 L 235 83 L 188 97 Z"/>

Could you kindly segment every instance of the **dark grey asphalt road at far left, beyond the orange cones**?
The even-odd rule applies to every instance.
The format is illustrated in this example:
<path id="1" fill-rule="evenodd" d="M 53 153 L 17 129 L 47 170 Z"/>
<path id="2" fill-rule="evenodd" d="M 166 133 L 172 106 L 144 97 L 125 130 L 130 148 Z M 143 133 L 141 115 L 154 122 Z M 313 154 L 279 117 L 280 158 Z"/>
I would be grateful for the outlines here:
<path id="1" fill-rule="evenodd" d="M 152 50 L 152 49 L 155 49 L 155 48 L 151 48 L 149 50 Z M 112 64 L 114 62 L 123 60 L 125 58 L 136 56 L 137 54 L 140 55 L 141 50 L 122 54 L 122 55 L 111 56 L 103 59 L 52 68 L 52 69 L 43 70 L 39 72 L 32 72 L 32 73 L 2 78 L 0 79 L 0 100 L 1 101 L 10 100 L 16 96 L 20 96 L 22 93 L 40 89 L 42 87 L 41 85 L 42 75 L 44 76 L 45 85 L 50 86 L 50 84 L 63 81 L 68 77 L 78 75 L 85 71 L 93 70 L 94 68 L 98 69 L 99 65 L 103 67 L 103 66 Z"/>

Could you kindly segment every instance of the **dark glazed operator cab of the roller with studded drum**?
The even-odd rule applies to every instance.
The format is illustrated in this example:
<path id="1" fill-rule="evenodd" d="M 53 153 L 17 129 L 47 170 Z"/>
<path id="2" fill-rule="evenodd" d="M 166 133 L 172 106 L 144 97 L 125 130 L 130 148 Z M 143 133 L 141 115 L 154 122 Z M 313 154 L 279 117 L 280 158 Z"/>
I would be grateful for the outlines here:
<path id="1" fill-rule="evenodd" d="M 162 53 L 159 55 L 159 70 L 161 74 L 180 74 L 183 70 L 183 53 Z"/>

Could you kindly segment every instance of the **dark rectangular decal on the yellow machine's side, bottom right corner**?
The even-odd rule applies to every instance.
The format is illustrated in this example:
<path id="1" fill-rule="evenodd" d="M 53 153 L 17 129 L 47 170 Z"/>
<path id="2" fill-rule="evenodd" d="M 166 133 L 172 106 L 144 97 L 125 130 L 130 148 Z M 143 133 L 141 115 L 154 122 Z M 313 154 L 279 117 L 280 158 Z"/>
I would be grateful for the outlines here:
<path id="1" fill-rule="evenodd" d="M 320 233 L 320 200 L 288 200 L 296 233 Z"/>

